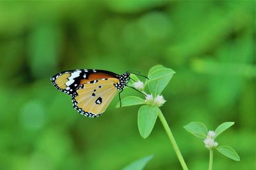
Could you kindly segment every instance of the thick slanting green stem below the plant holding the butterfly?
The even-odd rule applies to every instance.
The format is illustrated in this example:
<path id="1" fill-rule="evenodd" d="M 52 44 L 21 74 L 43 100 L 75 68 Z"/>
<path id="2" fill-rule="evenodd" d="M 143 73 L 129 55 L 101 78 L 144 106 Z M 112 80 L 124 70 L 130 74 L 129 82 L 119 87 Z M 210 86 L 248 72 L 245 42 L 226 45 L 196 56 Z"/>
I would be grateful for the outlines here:
<path id="1" fill-rule="evenodd" d="M 177 155 L 177 157 L 178 157 L 178 159 L 180 161 L 180 164 L 181 164 L 182 168 L 184 170 L 188 170 L 188 167 L 187 167 L 187 165 L 186 165 L 186 163 L 185 163 L 185 161 L 184 161 L 184 159 L 183 159 L 183 157 L 182 157 L 182 155 L 180 153 L 179 147 L 178 147 L 178 145 L 177 145 L 177 143 L 176 143 L 176 141 L 175 141 L 175 139 L 173 137 L 172 131 L 171 131 L 169 125 L 167 124 L 167 122 L 166 122 L 166 120 L 164 118 L 164 115 L 161 112 L 161 110 L 159 110 L 158 117 L 160 118 L 160 120 L 161 120 L 161 122 L 162 122 L 162 124 L 164 126 L 164 129 L 165 129 L 165 131 L 166 131 L 166 133 L 167 133 L 167 135 L 168 135 L 168 137 L 169 137 L 169 139 L 170 139 L 170 141 L 172 143 L 173 149 L 174 149 L 174 151 L 175 151 L 175 153 L 176 153 L 176 155 Z"/>

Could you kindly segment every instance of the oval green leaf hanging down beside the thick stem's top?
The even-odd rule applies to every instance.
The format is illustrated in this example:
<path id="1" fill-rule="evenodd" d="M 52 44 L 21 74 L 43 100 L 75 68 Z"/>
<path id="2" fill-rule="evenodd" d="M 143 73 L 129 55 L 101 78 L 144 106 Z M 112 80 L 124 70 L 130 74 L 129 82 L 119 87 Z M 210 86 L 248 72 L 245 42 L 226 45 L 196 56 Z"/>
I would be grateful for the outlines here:
<path id="1" fill-rule="evenodd" d="M 151 133 L 158 114 L 157 106 L 141 106 L 138 113 L 138 127 L 142 138 L 147 138 Z"/>

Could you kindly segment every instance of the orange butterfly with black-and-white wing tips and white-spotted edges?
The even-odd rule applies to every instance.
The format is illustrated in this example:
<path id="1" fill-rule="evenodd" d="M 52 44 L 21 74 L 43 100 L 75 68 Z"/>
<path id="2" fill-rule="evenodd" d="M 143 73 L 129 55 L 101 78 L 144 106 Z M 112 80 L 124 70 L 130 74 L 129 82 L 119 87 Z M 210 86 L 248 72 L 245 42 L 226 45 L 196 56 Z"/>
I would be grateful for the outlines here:
<path id="1" fill-rule="evenodd" d="M 72 97 L 75 110 L 86 117 L 99 117 L 115 94 L 127 86 L 130 73 L 116 74 L 100 69 L 61 71 L 51 77 L 56 89 Z"/>

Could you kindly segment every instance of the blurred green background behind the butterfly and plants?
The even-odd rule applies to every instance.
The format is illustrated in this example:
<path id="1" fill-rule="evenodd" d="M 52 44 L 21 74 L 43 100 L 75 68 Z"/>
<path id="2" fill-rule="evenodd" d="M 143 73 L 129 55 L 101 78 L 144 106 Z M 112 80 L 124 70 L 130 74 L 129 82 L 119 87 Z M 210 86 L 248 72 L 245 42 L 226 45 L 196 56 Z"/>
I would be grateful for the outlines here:
<path id="1" fill-rule="evenodd" d="M 50 81 L 156 64 L 177 72 L 161 109 L 189 169 L 209 160 L 183 128 L 193 121 L 236 122 L 217 141 L 241 161 L 214 152 L 214 169 L 256 168 L 254 1 L 2 1 L 0 56 L 0 169 L 121 169 L 150 154 L 145 169 L 181 169 L 159 120 L 140 137 L 139 106 L 115 108 L 116 96 L 101 117 L 83 117 Z"/>

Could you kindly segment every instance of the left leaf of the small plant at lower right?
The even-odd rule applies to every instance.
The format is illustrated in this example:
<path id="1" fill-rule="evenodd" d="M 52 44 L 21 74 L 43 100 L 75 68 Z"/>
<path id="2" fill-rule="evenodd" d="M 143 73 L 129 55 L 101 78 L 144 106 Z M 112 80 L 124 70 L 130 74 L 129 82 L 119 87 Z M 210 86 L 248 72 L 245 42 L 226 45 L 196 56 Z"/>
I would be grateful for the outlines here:
<path id="1" fill-rule="evenodd" d="M 207 136 L 207 127 L 201 122 L 191 122 L 188 125 L 185 125 L 184 128 L 197 138 L 205 139 Z"/>

